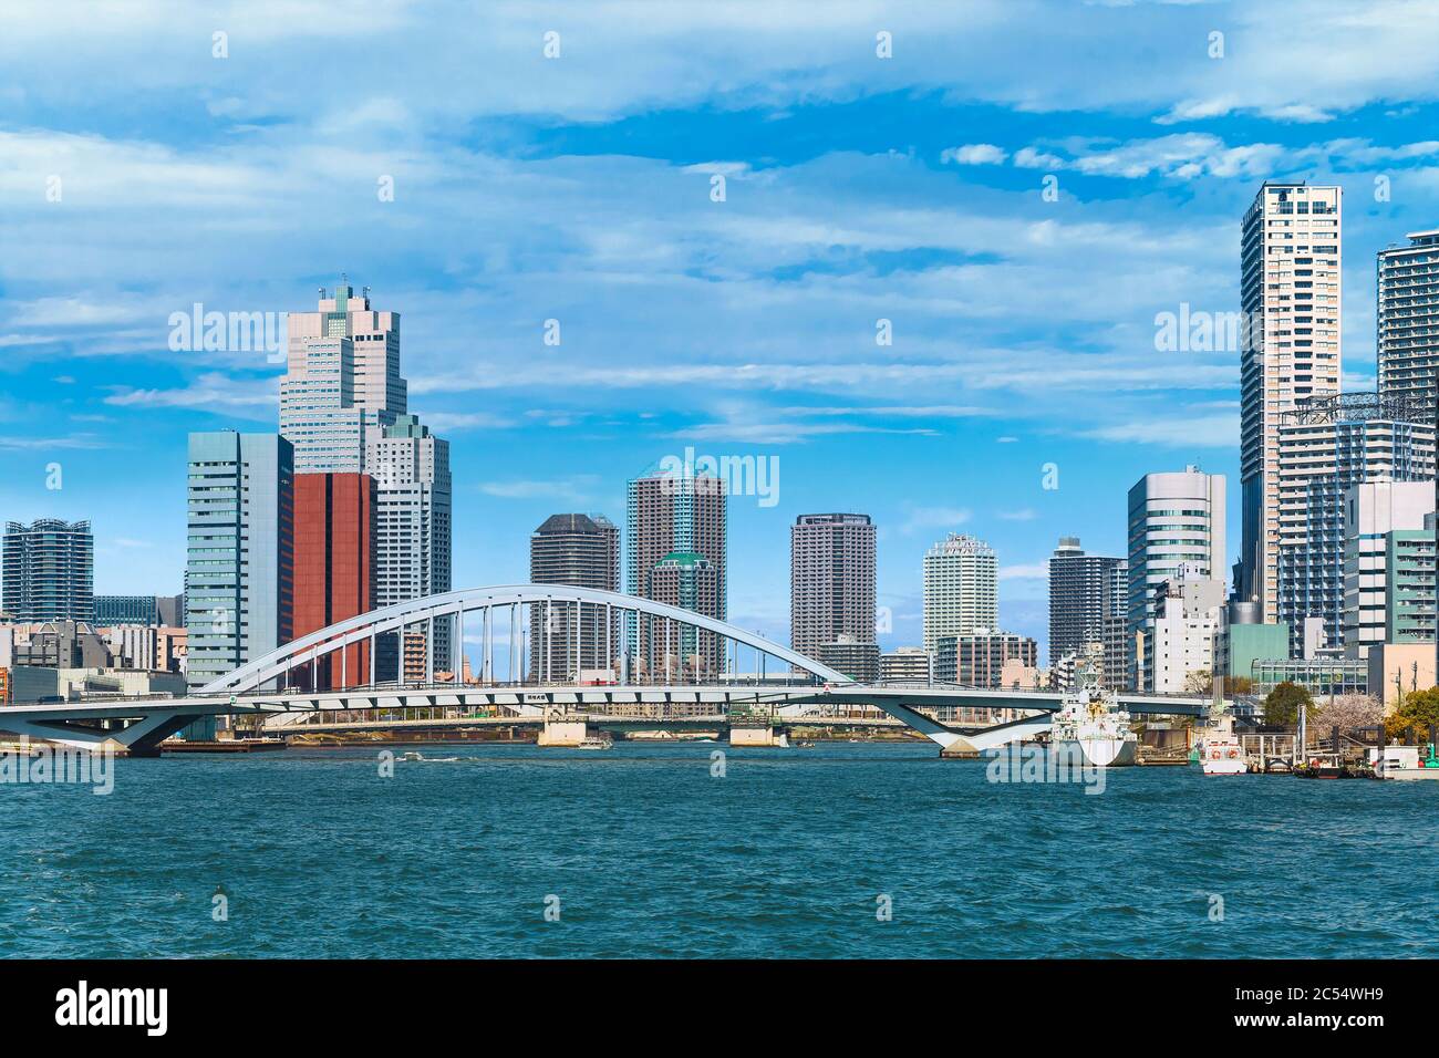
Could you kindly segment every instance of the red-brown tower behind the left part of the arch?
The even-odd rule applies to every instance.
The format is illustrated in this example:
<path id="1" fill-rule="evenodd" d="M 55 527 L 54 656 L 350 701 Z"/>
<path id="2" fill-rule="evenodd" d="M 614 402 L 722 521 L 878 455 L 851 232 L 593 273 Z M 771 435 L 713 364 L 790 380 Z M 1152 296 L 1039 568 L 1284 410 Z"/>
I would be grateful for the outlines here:
<path id="1" fill-rule="evenodd" d="M 295 475 L 295 638 L 374 609 L 376 487 L 367 474 Z M 330 691 L 370 681 L 370 645 L 347 658 L 321 659 L 318 687 Z M 309 666 L 292 675 L 309 684 Z"/>

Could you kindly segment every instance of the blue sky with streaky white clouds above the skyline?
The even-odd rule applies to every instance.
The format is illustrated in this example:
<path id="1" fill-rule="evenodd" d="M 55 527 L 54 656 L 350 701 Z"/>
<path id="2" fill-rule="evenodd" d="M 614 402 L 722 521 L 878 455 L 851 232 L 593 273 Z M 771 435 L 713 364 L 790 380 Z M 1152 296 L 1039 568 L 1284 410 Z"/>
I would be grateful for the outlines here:
<path id="1" fill-rule="evenodd" d="M 1238 309 L 1262 180 L 1344 184 L 1373 384 L 1374 253 L 1439 226 L 1436 89 L 1432 3 L 7 3 L 0 520 L 91 518 L 96 590 L 178 590 L 184 435 L 275 429 L 278 369 L 173 353 L 170 314 L 347 272 L 450 440 L 456 584 L 694 446 L 778 458 L 776 505 L 731 504 L 743 626 L 787 636 L 789 525 L 845 510 L 886 646 L 947 531 L 1043 641 L 1056 537 L 1122 553 L 1144 472 L 1226 474 L 1238 541 L 1238 356 L 1154 318 Z"/>

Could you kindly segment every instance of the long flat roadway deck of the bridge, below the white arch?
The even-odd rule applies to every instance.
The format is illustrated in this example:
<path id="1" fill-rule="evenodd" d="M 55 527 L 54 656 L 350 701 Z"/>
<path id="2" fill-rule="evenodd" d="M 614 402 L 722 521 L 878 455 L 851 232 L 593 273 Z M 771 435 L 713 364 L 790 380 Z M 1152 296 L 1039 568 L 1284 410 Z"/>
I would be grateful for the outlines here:
<path id="1" fill-rule="evenodd" d="M 499 710 L 511 723 L 543 723 L 555 711 L 586 713 L 587 707 L 609 713 L 623 705 L 695 707 L 715 711 L 732 707 L 767 708 L 778 724 L 803 723 L 823 714 L 826 705 L 873 705 L 921 731 L 941 747 L 968 743 L 973 749 L 1002 744 L 1048 728 L 1061 705 L 1058 691 L 1003 691 L 953 685 L 912 684 L 714 684 L 714 685 L 491 685 L 430 684 L 426 687 L 374 687 L 335 692 L 242 692 L 197 694 L 186 698 L 125 698 L 119 701 L 55 702 L 0 708 L 0 731 L 47 738 L 79 747 L 114 744 L 131 753 L 153 753 L 158 743 L 184 725 L 212 715 L 266 715 L 266 727 L 286 727 L 282 718 L 307 713 L 355 710 L 459 708 Z M 1135 715 L 1200 715 L 1207 698 L 1121 694 L 1118 704 Z M 986 728 L 983 738 L 964 728 L 940 723 L 934 710 L 1017 710 L 1029 714 L 1019 721 Z M 920 711 L 924 710 L 924 711 Z M 610 714 L 613 715 L 613 714 Z M 578 718 L 578 717 L 576 717 Z M 822 720 L 822 715 L 814 715 Z M 121 727 L 121 724 L 128 724 Z M 973 730 L 973 728 L 971 728 Z"/>

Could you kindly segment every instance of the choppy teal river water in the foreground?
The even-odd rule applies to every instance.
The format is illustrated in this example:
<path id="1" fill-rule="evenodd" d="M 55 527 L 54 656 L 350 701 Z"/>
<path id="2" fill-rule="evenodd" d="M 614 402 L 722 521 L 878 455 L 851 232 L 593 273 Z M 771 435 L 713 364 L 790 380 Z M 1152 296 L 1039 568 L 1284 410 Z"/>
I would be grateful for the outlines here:
<path id="1" fill-rule="evenodd" d="M 419 751 L 0 785 L 0 953 L 1439 956 L 1439 783 L 1131 767 L 1095 796 L 917 743 Z"/>

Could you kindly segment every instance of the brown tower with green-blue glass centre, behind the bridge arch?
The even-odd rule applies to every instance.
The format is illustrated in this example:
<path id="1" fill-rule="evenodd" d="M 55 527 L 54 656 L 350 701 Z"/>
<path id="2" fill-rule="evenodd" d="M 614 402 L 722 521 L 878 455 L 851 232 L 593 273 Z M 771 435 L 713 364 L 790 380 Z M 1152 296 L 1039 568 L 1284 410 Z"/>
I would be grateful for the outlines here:
<path id="1" fill-rule="evenodd" d="M 724 481 L 688 468 L 684 472 L 649 471 L 632 478 L 626 494 L 625 582 L 629 594 L 671 602 L 724 620 L 728 609 L 728 495 Z M 662 623 L 630 618 L 626 632 L 630 671 L 646 675 L 662 671 L 665 635 Z M 704 648 L 699 651 L 701 662 L 712 672 L 721 671 L 715 638 L 705 636 L 695 645 Z M 681 648 L 672 648 L 669 654 Z"/>

